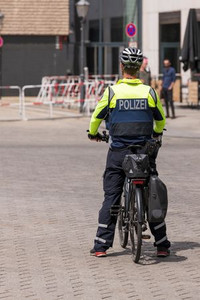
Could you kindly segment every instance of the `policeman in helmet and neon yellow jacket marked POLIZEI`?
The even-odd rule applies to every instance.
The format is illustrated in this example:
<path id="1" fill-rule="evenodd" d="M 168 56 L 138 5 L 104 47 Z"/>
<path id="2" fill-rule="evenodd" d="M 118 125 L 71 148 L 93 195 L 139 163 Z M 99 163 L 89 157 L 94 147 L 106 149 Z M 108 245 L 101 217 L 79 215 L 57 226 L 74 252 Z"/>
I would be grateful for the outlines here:
<path id="1" fill-rule="evenodd" d="M 119 205 L 123 191 L 125 174 L 122 162 L 130 144 L 144 145 L 149 139 L 162 135 L 165 126 L 164 111 L 160 99 L 148 85 L 136 78 L 143 61 L 143 54 L 137 48 L 125 48 L 120 54 L 120 67 L 123 79 L 108 87 L 98 102 L 91 117 L 90 140 L 100 141 L 98 128 L 105 118 L 109 123 L 110 148 L 104 172 L 104 202 L 99 211 L 99 224 L 90 251 L 96 257 L 106 256 L 106 250 L 112 247 L 117 218 L 111 216 L 112 205 Z M 156 172 L 155 158 L 150 162 Z M 155 238 L 157 256 L 170 254 L 170 242 L 166 235 L 166 224 L 149 223 Z"/>

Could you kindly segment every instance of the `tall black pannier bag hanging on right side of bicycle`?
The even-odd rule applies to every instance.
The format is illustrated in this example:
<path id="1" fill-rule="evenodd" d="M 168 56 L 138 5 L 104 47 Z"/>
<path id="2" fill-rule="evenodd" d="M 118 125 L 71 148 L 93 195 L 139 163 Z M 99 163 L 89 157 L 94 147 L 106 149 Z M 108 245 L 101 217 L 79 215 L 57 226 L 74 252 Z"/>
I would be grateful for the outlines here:
<path id="1" fill-rule="evenodd" d="M 167 214 L 168 197 L 167 188 L 162 180 L 156 176 L 150 176 L 148 198 L 148 221 L 163 222 Z"/>

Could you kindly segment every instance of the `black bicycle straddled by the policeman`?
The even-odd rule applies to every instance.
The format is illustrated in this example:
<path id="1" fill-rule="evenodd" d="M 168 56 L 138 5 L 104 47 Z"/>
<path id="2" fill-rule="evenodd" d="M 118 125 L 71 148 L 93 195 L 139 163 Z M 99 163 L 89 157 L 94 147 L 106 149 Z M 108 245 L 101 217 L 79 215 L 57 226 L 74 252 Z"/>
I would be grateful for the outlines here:
<path id="1" fill-rule="evenodd" d="M 138 263 L 141 256 L 142 240 L 150 239 L 143 234 L 147 230 L 150 164 L 149 156 L 160 147 L 157 140 L 148 141 L 145 146 L 131 145 L 123 162 L 126 174 L 124 194 L 118 210 L 118 231 L 120 245 L 126 248 L 130 234 L 132 258 Z M 144 149 L 144 154 L 138 153 Z"/>

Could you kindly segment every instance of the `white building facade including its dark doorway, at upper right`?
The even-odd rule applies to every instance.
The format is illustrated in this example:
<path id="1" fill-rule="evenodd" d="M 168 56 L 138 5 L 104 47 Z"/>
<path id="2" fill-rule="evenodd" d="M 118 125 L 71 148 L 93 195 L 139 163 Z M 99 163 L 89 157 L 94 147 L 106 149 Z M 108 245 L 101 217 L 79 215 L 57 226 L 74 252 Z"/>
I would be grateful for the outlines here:
<path id="1" fill-rule="evenodd" d="M 183 85 L 191 77 L 190 70 L 184 72 L 179 62 L 190 8 L 196 9 L 200 28 L 199 0 L 143 0 L 142 44 L 152 74 L 158 76 L 162 72 L 163 59 L 169 58 L 180 73 Z"/>

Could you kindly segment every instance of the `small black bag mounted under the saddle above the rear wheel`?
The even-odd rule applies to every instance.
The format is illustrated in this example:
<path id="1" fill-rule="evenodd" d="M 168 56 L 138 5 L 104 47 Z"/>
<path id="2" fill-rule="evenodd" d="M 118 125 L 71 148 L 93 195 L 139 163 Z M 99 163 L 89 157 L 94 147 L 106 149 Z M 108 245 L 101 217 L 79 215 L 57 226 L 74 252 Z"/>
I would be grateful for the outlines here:
<path id="1" fill-rule="evenodd" d="M 146 178 L 149 176 L 149 158 L 146 154 L 127 154 L 122 168 L 128 178 Z"/>

